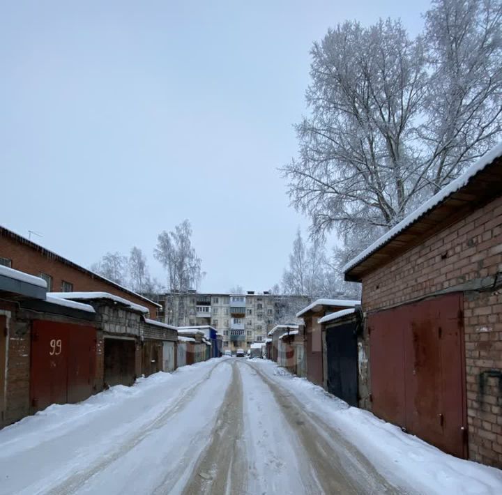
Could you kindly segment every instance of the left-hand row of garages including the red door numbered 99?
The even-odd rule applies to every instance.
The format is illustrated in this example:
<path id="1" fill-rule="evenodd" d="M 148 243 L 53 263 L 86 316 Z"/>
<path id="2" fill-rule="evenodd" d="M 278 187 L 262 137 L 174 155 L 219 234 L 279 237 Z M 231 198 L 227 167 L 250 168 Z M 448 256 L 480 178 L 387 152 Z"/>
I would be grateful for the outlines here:
<path id="1" fill-rule="evenodd" d="M 75 403 L 138 376 L 219 356 L 213 328 L 183 329 L 104 292 L 47 293 L 45 282 L 0 266 L 0 426 Z"/>

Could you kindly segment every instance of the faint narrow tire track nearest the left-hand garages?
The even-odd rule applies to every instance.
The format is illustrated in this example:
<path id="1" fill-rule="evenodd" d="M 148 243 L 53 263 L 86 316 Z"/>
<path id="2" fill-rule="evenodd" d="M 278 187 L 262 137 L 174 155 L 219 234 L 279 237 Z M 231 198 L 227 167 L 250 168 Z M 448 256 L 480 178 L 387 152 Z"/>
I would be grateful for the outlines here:
<path id="1" fill-rule="evenodd" d="M 203 386 L 206 381 L 211 379 L 211 376 L 213 375 L 213 372 L 216 370 L 216 368 L 224 363 L 227 363 L 227 360 L 219 361 L 211 368 L 211 370 L 204 374 L 204 376 L 199 379 L 199 381 L 181 391 L 180 397 L 176 399 L 174 404 L 171 404 L 167 407 L 167 409 L 162 411 L 162 413 L 160 413 L 160 415 L 157 416 L 149 426 L 144 427 L 140 432 L 136 432 L 135 434 L 130 436 L 128 439 L 126 439 L 126 441 L 121 443 L 114 450 L 107 452 L 107 454 L 100 457 L 85 471 L 78 471 L 77 473 L 71 475 L 56 487 L 49 489 L 47 493 L 52 495 L 66 495 L 76 492 L 77 489 L 82 487 L 82 485 L 84 485 L 87 480 L 98 475 L 101 471 L 104 471 L 110 464 L 115 462 L 123 455 L 126 455 L 128 452 L 130 452 L 130 450 L 135 448 L 138 443 L 144 440 L 146 436 L 149 436 L 156 429 L 160 429 L 161 427 L 165 426 L 167 422 L 169 422 L 169 420 L 172 418 L 173 414 L 182 411 L 186 406 L 188 406 L 188 404 L 190 404 L 190 402 L 192 401 L 194 395 L 197 393 L 197 390 L 199 390 L 199 388 Z"/>

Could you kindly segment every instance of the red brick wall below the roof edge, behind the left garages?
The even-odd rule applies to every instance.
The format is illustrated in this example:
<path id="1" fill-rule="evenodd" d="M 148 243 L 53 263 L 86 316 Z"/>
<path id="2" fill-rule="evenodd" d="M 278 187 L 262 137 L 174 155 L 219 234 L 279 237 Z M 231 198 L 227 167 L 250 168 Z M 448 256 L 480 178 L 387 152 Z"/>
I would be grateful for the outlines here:
<path id="1" fill-rule="evenodd" d="M 38 276 L 40 273 L 47 273 L 52 277 L 52 291 L 61 291 L 61 283 L 70 282 L 74 291 L 102 291 L 109 292 L 115 296 L 126 298 L 132 303 L 145 306 L 149 309 L 151 318 L 155 319 L 157 307 L 146 300 L 122 291 L 114 284 L 109 284 L 104 280 L 93 278 L 91 275 L 79 271 L 73 266 L 64 264 L 54 256 L 48 256 L 41 250 L 36 250 L 30 245 L 22 244 L 8 236 L 0 235 L 0 257 L 12 259 L 12 267 L 31 275 Z"/>

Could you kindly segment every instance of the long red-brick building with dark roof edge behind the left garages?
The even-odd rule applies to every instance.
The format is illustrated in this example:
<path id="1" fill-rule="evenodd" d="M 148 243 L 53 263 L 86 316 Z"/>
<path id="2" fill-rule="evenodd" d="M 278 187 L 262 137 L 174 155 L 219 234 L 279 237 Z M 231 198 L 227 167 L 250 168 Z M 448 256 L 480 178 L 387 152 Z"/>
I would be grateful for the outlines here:
<path id="1" fill-rule="evenodd" d="M 8 260 L 10 268 L 15 270 L 30 273 L 36 277 L 40 276 L 40 273 L 50 275 L 52 287 L 48 288 L 49 292 L 66 291 L 67 289 L 70 291 L 109 292 L 147 307 L 151 318 L 157 317 L 160 305 L 110 282 L 4 227 L 0 227 L 0 258 Z M 63 287 L 63 282 L 68 282 L 71 286 Z"/>

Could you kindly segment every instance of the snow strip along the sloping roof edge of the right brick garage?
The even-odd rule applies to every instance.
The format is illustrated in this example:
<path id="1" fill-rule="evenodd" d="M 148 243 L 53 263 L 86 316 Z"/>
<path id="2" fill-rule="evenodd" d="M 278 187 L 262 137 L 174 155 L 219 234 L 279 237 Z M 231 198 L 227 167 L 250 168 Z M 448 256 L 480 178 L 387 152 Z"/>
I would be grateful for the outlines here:
<path id="1" fill-rule="evenodd" d="M 485 169 L 487 165 L 490 165 L 496 158 L 500 158 L 502 156 L 502 142 L 497 144 L 490 151 L 482 155 L 482 157 L 469 169 L 464 172 L 461 176 L 455 179 L 455 181 L 450 182 L 446 187 L 441 189 L 436 195 L 434 195 L 428 201 L 417 208 L 415 211 L 410 213 L 404 220 L 395 225 L 392 229 L 390 229 L 386 234 L 383 234 L 377 241 L 374 241 L 372 245 L 366 248 L 363 252 L 360 252 L 355 258 L 351 259 L 349 263 L 347 263 L 343 268 L 343 272 L 347 273 L 351 271 L 352 268 L 360 264 L 361 261 L 365 260 L 367 257 L 370 257 L 375 251 L 379 250 L 386 245 L 389 241 L 391 241 L 397 234 L 400 234 L 404 229 L 408 228 L 411 224 L 416 222 L 420 217 L 425 215 L 429 210 L 432 210 L 435 206 L 438 206 L 442 201 L 444 201 L 448 196 L 452 195 L 454 192 L 457 192 L 459 189 L 463 188 L 471 178 L 473 178 L 478 172 L 481 172 L 482 169 Z"/>

